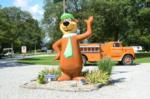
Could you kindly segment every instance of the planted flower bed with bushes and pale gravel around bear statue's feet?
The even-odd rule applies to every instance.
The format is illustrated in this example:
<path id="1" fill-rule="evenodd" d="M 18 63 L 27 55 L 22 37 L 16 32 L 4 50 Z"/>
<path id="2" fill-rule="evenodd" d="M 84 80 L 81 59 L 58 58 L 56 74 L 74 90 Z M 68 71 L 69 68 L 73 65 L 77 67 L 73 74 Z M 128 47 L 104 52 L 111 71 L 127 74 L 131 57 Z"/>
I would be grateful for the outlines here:
<path id="1" fill-rule="evenodd" d="M 22 87 L 75 92 L 96 90 L 109 83 L 113 67 L 112 61 L 109 58 L 101 60 L 97 65 L 97 69 L 88 69 L 82 72 L 82 76 L 86 80 L 57 81 L 61 71 L 59 68 L 51 68 L 42 70 L 38 78 L 24 84 Z"/>

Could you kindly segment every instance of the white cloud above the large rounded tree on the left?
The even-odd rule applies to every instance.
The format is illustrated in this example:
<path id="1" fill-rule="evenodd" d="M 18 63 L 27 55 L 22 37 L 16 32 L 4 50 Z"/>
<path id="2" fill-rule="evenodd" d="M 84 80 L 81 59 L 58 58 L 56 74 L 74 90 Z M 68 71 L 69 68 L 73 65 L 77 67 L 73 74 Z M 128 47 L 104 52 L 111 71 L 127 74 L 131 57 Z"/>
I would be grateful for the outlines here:
<path id="1" fill-rule="evenodd" d="M 37 3 L 31 4 L 32 0 L 14 0 L 14 5 L 20 7 L 22 10 L 29 11 L 34 19 L 42 19 L 44 10 L 42 6 Z M 35 0 L 36 1 L 36 0 Z M 33 1 L 32 1 L 33 3 Z"/>

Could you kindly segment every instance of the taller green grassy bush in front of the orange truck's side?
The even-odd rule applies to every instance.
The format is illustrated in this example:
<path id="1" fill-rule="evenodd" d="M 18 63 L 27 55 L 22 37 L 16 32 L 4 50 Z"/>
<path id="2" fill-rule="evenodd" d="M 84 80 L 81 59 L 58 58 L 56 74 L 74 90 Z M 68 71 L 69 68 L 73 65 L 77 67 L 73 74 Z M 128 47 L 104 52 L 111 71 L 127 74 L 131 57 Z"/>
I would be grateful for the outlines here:
<path id="1" fill-rule="evenodd" d="M 98 62 L 97 65 L 99 70 L 107 72 L 108 75 L 110 75 L 112 72 L 112 68 L 114 66 L 114 62 L 112 61 L 111 58 L 103 58 Z"/>

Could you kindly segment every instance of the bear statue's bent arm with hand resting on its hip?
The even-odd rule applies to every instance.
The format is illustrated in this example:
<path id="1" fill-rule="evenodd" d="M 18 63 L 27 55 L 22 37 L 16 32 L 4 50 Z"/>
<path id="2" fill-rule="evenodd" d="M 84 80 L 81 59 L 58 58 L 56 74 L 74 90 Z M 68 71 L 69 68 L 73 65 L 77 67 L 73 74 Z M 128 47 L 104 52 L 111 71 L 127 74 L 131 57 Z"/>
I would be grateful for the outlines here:
<path id="1" fill-rule="evenodd" d="M 55 57 L 55 60 L 59 60 L 60 59 L 60 52 L 61 52 L 61 39 L 59 39 L 58 41 L 56 41 L 53 44 L 53 49 L 57 52 L 57 56 Z"/>

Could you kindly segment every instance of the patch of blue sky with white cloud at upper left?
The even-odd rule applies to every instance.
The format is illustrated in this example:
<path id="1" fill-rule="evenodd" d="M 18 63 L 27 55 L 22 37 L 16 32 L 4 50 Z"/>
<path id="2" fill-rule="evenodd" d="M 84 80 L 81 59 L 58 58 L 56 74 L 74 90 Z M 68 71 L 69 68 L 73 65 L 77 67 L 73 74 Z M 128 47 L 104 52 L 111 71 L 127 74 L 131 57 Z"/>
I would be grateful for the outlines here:
<path id="1" fill-rule="evenodd" d="M 34 19 L 41 20 L 43 18 L 43 0 L 0 0 L 0 5 L 2 7 L 16 6 L 30 12 Z"/>

